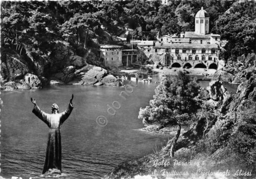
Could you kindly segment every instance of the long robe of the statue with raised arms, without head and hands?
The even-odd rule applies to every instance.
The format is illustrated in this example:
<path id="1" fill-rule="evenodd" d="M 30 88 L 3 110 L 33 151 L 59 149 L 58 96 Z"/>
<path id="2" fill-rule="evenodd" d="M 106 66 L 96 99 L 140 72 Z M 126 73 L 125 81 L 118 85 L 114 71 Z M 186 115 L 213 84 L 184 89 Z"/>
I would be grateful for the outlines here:
<path id="1" fill-rule="evenodd" d="M 46 149 L 46 158 L 42 174 L 49 171 L 49 169 L 57 169 L 61 172 L 61 137 L 60 127 L 61 124 L 69 117 L 73 105 L 69 103 L 67 110 L 62 113 L 47 114 L 35 105 L 33 113 L 42 121 L 44 121 L 50 128 L 48 135 L 48 143 Z"/>

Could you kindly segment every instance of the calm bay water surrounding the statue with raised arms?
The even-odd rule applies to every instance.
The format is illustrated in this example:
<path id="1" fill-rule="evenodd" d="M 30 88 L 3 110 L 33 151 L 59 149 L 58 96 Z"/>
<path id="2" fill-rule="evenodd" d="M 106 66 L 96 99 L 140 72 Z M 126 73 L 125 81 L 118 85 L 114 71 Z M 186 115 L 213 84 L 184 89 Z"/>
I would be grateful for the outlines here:
<path id="1" fill-rule="evenodd" d="M 207 86 L 208 81 L 201 84 Z M 30 97 L 50 113 L 52 103 L 57 103 L 60 111 L 65 110 L 74 94 L 74 109 L 61 127 L 63 178 L 101 178 L 124 161 L 152 153 L 168 137 L 141 131 L 144 125 L 138 111 L 149 104 L 157 85 L 139 82 L 126 99 L 119 96 L 124 87 L 108 86 L 66 85 L 3 92 L 1 176 L 38 177 L 44 166 L 49 128 L 32 113 Z M 236 87 L 228 88 L 236 91 Z M 110 115 L 107 105 L 114 101 L 120 108 Z M 98 116 L 104 116 L 108 124 L 99 126 Z"/>

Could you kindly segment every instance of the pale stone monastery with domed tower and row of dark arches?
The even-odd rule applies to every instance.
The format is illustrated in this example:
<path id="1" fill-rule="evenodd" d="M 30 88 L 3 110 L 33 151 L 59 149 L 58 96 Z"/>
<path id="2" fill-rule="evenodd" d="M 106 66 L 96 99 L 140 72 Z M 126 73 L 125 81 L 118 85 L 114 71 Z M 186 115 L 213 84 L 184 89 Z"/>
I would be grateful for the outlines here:
<path id="1" fill-rule="evenodd" d="M 209 34 L 209 15 L 201 8 L 195 16 L 195 31 L 180 37 L 163 35 L 158 41 L 141 41 L 137 46 L 148 58 L 162 65 L 182 68 L 217 69 L 222 42 L 220 35 Z"/>

